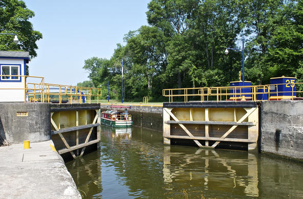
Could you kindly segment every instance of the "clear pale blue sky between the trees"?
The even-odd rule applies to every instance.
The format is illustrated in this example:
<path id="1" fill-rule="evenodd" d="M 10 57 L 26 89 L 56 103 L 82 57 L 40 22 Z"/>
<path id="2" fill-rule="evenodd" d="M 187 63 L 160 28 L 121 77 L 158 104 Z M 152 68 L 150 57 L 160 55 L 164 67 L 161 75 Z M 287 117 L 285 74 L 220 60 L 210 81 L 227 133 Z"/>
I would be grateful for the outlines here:
<path id="1" fill-rule="evenodd" d="M 129 31 L 147 25 L 149 0 L 23 0 L 35 13 L 33 29 L 42 33 L 30 76 L 46 83 L 77 85 L 89 80 L 84 60 L 110 59 Z"/>

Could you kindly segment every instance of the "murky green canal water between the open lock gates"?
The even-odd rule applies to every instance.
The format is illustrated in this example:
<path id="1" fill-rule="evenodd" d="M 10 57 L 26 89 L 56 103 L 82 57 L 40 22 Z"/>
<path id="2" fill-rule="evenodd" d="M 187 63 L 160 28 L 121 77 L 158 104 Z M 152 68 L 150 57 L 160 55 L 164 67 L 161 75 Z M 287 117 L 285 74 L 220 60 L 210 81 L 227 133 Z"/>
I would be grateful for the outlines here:
<path id="1" fill-rule="evenodd" d="M 303 163 L 163 145 L 162 133 L 101 127 L 98 151 L 66 163 L 83 198 L 302 198 Z"/>

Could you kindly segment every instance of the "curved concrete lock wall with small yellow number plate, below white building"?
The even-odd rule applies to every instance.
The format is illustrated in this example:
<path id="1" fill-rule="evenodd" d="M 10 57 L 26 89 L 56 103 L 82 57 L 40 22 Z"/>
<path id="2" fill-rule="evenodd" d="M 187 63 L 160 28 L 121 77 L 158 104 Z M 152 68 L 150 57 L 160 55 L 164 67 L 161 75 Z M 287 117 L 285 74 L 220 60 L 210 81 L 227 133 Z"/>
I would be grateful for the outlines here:
<path id="1" fill-rule="evenodd" d="M 50 139 L 48 103 L 0 103 L 0 134 L 10 143 Z"/>

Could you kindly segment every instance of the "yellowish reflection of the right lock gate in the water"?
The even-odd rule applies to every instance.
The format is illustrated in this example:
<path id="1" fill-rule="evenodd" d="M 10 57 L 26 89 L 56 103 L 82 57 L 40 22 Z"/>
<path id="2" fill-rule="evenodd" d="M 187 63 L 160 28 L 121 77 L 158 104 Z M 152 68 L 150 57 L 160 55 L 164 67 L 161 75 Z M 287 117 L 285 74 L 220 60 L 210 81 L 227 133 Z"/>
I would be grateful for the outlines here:
<path id="1" fill-rule="evenodd" d="M 177 149 L 177 150 L 176 150 Z M 164 182 L 174 192 L 184 189 L 188 196 L 258 196 L 257 159 L 245 152 L 196 149 L 192 154 L 164 146 Z M 210 191 L 207 191 L 210 190 Z M 172 194 L 172 192 L 170 194 Z"/>

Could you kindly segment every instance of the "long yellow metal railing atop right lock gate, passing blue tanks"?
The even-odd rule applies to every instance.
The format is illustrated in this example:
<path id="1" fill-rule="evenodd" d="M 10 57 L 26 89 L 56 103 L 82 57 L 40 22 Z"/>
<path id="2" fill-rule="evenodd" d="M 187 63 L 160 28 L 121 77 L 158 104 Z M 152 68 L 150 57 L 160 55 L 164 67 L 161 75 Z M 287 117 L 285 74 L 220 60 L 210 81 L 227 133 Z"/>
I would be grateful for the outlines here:
<path id="1" fill-rule="evenodd" d="M 296 94 L 302 93 L 303 83 L 269 84 L 257 86 L 223 86 L 201 88 L 173 88 L 163 89 L 162 95 L 168 97 L 169 103 L 173 98 L 180 97 L 183 101 L 264 101 L 279 99 L 294 99 Z M 300 85 L 300 87 L 299 87 Z M 285 90 L 285 88 L 287 89 Z M 303 95 L 303 94 L 302 94 Z M 258 97 L 259 96 L 259 97 Z M 261 98 L 261 99 L 260 99 Z"/>

